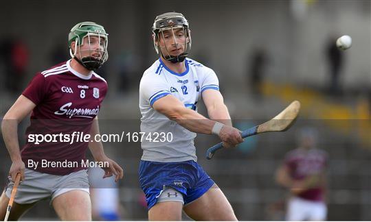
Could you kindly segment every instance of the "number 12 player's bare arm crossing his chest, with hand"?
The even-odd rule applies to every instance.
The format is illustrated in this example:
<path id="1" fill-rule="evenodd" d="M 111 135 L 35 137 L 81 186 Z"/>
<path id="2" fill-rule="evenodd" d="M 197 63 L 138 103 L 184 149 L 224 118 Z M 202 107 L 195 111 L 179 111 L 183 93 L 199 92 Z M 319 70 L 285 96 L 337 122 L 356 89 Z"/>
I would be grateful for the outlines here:
<path id="1" fill-rule="evenodd" d="M 179 99 L 167 95 L 153 103 L 153 108 L 164 114 L 169 119 L 176 121 L 187 130 L 201 134 L 212 134 L 216 121 L 207 119 L 205 116 L 186 108 Z M 228 125 L 223 125 L 218 136 L 223 142 L 230 145 L 237 145 L 243 142 L 239 130 Z"/>

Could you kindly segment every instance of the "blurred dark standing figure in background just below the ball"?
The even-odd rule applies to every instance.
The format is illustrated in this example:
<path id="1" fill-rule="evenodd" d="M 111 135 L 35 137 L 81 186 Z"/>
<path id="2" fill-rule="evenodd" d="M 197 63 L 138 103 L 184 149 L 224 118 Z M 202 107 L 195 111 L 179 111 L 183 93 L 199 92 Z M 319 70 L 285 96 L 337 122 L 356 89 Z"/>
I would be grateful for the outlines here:
<path id="1" fill-rule="evenodd" d="M 339 75 L 343 64 L 343 55 L 341 51 L 337 49 L 336 38 L 332 37 L 328 40 L 328 46 L 326 47 L 326 57 L 328 60 L 328 72 L 330 75 L 330 84 L 328 90 L 331 94 L 337 95 L 340 93 L 341 87 L 339 85 Z"/>

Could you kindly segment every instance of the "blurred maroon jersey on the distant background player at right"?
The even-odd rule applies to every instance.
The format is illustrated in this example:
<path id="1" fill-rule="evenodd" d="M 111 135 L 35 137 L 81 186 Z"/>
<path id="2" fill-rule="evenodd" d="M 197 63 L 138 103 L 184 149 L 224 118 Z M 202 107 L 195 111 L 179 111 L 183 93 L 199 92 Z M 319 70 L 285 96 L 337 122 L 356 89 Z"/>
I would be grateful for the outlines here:
<path id="1" fill-rule="evenodd" d="M 327 154 L 320 149 L 294 149 L 287 153 L 286 167 L 294 180 L 304 180 L 305 177 L 323 173 L 327 165 Z M 324 187 L 313 187 L 297 195 L 311 201 L 323 201 Z"/>

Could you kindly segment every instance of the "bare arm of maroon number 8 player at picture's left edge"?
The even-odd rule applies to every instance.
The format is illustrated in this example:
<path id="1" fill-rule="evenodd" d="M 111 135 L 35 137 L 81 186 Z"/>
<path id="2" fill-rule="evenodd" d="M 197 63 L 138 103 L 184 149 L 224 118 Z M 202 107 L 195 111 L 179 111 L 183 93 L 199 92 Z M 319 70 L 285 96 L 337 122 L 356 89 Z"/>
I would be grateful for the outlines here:
<path id="1" fill-rule="evenodd" d="M 1 132 L 3 132 L 3 139 L 6 148 L 8 149 L 12 166 L 10 167 L 9 175 L 12 181 L 15 180 L 16 173 L 21 172 L 21 180 L 25 179 L 24 171 L 25 164 L 21 159 L 18 141 L 18 124 L 30 114 L 35 108 L 35 104 L 27 97 L 21 95 L 13 104 L 13 106 L 6 112 L 1 123 Z"/>

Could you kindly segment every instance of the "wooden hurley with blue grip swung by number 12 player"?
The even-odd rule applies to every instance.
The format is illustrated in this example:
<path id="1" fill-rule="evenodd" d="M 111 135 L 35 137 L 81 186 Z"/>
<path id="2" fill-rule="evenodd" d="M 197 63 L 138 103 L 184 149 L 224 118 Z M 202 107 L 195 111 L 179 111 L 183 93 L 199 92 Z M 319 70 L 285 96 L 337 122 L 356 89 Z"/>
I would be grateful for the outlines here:
<path id="1" fill-rule="evenodd" d="M 283 132 L 289 130 L 289 127 L 291 127 L 291 125 L 293 125 L 293 123 L 295 122 L 299 111 L 300 102 L 295 100 L 273 119 L 241 132 L 241 136 L 242 138 L 246 138 L 247 136 L 254 136 L 256 134 L 262 134 L 264 132 Z M 223 148 L 223 142 L 218 143 L 207 149 L 207 160 L 210 160 L 212 156 L 214 156 L 214 153 L 221 148 Z"/>

